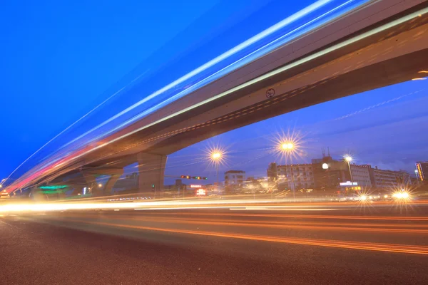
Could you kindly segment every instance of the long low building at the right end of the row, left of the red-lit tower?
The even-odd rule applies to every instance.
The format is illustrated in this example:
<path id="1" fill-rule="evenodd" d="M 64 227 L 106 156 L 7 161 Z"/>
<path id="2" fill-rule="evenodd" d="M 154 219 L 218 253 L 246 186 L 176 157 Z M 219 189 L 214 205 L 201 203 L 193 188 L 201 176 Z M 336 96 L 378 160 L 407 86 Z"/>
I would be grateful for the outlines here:
<path id="1" fill-rule="evenodd" d="M 379 170 L 377 167 L 370 169 L 372 187 L 383 190 L 392 190 L 410 185 L 410 175 L 404 171 Z"/>

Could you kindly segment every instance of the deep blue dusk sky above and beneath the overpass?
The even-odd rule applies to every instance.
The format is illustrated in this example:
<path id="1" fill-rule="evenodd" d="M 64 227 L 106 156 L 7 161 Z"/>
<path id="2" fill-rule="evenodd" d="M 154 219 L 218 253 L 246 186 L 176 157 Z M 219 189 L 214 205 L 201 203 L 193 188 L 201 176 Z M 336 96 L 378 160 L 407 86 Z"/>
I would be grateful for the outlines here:
<path id="1" fill-rule="evenodd" d="M 2 1 L 0 178 L 136 76 L 151 84 L 115 98 L 57 145 L 311 3 Z M 357 163 L 412 171 L 415 161 L 428 160 L 427 87 L 428 81 L 402 83 L 240 128 L 171 155 L 165 174 L 212 177 L 213 167 L 198 161 L 209 145 L 223 145 L 228 161 L 220 171 L 265 175 L 269 162 L 280 162 L 266 148 L 287 129 L 305 135 L 295 162 L 310 162 L 330 147 L 334 157 L 350 152 Z"/>

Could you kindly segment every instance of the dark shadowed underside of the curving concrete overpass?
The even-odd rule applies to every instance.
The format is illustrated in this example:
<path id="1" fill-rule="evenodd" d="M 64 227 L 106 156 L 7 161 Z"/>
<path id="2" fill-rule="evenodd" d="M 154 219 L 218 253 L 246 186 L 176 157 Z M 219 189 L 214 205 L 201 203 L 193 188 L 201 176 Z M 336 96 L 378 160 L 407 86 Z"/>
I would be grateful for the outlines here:
<path id="1" fill-rule="evenodd" d="M 425 58 L 425 61 L 421 61 Z M 418 77 L 418 71 L 428 69 L 428 48 L 416 53 L 360 68 L 342 76 L 327 78 L 303 88 L 275 95 L 264 103 L 255 103 L 228 113 L 198 128 L 173 135 L 150 147 L 149 152 L 169 154 L 215 135 L 257 123 L 311 105 L 335 100 Z M 420 75 L 419 75 L 420 76 Z M 326 110 L 328 111 L 328 110 Z"/>

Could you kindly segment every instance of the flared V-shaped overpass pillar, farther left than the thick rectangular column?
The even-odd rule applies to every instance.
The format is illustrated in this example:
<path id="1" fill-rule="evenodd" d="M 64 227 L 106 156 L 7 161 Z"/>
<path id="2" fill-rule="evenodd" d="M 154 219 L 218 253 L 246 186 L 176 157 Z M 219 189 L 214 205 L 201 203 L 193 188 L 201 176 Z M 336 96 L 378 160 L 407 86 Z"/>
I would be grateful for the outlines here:
<path id="1" fill-rule="evenodd" d="M 83 169 L 82 175 L 85 177 L 86 185 L 91 188 L 92 196 L 107 196 L 112 194 L 113 186 L 123 175 L 123 168 L 91 167 Z M 98 185 L 96 177 L 101 175 L 109 175 L 110 177 L 106 182 Z"/>

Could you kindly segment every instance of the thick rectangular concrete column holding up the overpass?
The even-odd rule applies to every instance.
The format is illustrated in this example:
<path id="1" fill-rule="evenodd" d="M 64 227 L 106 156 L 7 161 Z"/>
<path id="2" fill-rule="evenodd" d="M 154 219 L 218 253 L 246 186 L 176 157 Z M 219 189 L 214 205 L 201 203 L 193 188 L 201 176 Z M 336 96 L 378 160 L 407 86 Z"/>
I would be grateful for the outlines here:
<path id="1" fill-rule="evenodd" d="M 138 189 L 147 195 L 161 197 L 163 191 L 163 178 L 165 175 L 166 155 L 153 155 L 138 152 Z M 155 187 L 153 191 L 152 185 Z"/>

